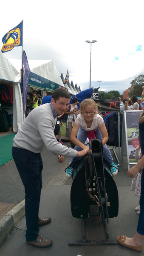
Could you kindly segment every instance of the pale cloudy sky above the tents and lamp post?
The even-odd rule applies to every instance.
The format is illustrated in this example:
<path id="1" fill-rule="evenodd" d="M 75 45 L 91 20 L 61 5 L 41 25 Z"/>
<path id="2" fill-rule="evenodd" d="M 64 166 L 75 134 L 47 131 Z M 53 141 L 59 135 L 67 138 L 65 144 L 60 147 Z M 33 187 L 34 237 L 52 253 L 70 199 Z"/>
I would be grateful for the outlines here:
<path id="1" fill-rule="evenodd" d="M 28 60 L 53 59 L 59 72 L 81 88 L 120 94 L 144 74 L 143 0 L 25 0 L 3 3 L 0 37 L 23 20 Z M 5 6 L 4 6 L 5 5 Z M 3 46 L 0 40 L 0 49 Z M 4 53 L 20 59 L 22 47 Z M 37 66 L 37 64 L 36 64 Z M 101 81 L 100 83 L 98 81 Z"/>

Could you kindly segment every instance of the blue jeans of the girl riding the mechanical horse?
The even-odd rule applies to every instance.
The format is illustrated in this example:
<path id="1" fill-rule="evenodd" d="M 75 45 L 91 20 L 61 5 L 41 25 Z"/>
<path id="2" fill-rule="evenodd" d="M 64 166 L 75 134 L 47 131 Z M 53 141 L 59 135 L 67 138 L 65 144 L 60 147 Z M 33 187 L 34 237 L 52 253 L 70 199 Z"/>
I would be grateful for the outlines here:
<path id="1" fill-rule="evenodd" d="M 96 139 L 102 140 L 102 134 L 101 134 L 101 131 L 99 129 L 97 129 L 95 131 L 95 136 L 96 136 Z M 77 139 L 80 142 L 85 144 L 85 141 L 86 141 L 87 138 L 88 138 L 87 131 L 85 131 L 82 127 L 79 127 L 79 131 L 78 131 L 78 134 L 77 134 Z M 75 146 L 74 149 L 77 150 L 77 151 L 81 151 L 82 150 L 82 148 L 79 148 L 77 145 Z M 103 154 L 104 154 L 104 157 L 107 160 L 107 162 L 109 162 L 110 164 L 113 163 L 113 157 L 112 157 L 112 155 L 110 153 L 110 149 L 107 148 L 106 144 L 103 146 Z"/>

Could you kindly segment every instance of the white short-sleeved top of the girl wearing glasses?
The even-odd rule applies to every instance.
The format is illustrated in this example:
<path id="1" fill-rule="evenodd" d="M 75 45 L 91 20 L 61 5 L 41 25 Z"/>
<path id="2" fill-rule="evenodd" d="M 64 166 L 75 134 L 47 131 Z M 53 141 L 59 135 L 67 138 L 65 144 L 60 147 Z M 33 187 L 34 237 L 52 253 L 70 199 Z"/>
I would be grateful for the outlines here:
<path id="1" fill-rule="evenodd" d="M 87 128 L 87 124 L 86 124 L 86 122 L 85 122 L 84 117 L 83 117 L 81 114 L 79 114 L 79 115 L 77 116 L 75 122 L 76 122 L 76 124 L 77 124 L 78 126 L 81 126 L 85 131 L 92 131 L 92 130 L 95 130 L 95 131 L 96 131 L 96 129 L 99 128 L 99 126 L 102 125 L 102 122 L 104 122 L 104 120 L 103 120 L 103 118 L 102 118 L 101 115 L 96 114 L 96 115 L 93 117 L 93 122 L 92 122 L 92 124 L 91 124 L 91 127 L 90 127 L 90 128 Z"/>

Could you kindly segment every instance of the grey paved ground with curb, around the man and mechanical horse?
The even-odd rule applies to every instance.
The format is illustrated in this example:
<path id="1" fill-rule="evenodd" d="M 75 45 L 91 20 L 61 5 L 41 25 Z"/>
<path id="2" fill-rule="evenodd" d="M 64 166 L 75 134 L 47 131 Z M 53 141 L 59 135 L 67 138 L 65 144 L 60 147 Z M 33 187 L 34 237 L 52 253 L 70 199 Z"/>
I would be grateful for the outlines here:
<path id="1" fill-rule="evenodd" d="M 64 145 L 67 145 L 64 142 Z M 118 155 L 118 149 L 116 149 Z M 113 151 L 112 151 L 113 154 Z M 119 215 L 109 218 L 107 228 L 113 244 L 73 245 L 73 241 L 82 241 L 82 219 L 71 214 L 71 183 L 65 176 L 65 168 L 70 157 L 62 164 L 57 157 L 46 149 L 42 152 L 42 194 L 40 217 L 51 216 L 51 223 L 40 227 L 40 235 L 53 240 L 50 248 L 37 248 L 25 243 L 25 192 L 14 161 L 0 166 L 0 202 L 9 204 L 10 209 L 0 218 L 0 256 L 142 256 L 142 252 L 122 247 L 116 242 L 116 236 L 133 236 L 136 232 L 138 215 L 134 208 L 139 198 L 130 191 L 132 179 L 127 176 L 127 159 L 123 157 L 119 173 L 114 177 L 119 192 Z M 116 159 L 114 159 L 116 163 Z M 101 218 L 88 218 L 86 222 L 87 240 L 104 240 Z"/>

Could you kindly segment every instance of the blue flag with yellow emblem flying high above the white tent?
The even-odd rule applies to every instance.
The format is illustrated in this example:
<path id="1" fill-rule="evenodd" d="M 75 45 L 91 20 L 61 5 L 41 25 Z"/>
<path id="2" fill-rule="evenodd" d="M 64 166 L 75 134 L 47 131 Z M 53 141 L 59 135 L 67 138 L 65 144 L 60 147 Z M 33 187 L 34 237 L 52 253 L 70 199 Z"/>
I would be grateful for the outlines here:
<path id="1" fill-rule="evenodd" d="M 2 52 L 11 51 L 15 46 L 23 45 L 23 21 L 4 35 Z"/>

